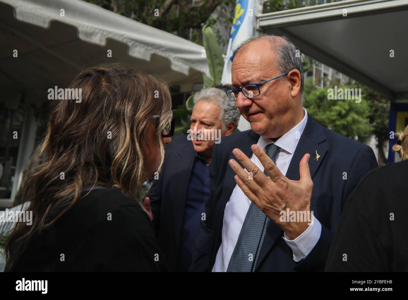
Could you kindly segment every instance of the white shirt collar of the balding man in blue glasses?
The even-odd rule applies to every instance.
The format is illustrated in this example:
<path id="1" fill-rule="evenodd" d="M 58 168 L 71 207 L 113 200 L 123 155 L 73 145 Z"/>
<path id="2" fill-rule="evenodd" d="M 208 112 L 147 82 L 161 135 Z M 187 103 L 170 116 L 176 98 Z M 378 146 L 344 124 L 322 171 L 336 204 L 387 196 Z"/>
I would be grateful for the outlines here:
<path id="1" fill-rule="evenodd" d="M 306 127 L 307 111 L 304 107 L 303 111 L 305 115 L 302 121 L 300 121 L 295 127 L 290 129 L 288 132 L 286 132 L 283 136 L 281 136 L 278 140 L 275 141 L 275 145 L 277 145 L 278 147 L 280 147 L 281 149 L 290 154 L 293 154 L 293 152 L 295 152 L 300 136 L 302 136 L 302 133 Z M 266 145 L 271 143 L 274 143 L 272 139 L 263 138 L 262 136 L 259 137 L 258 146 L 261 147 L 261 149 L 265 149 Z"/>

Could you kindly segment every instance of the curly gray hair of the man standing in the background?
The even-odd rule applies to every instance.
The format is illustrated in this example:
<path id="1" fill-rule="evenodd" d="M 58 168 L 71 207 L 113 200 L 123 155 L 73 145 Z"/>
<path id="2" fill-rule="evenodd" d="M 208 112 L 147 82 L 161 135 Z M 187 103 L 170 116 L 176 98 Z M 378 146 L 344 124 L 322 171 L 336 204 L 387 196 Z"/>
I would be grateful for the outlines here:
<path id="1" fill-rule="evenodd" d="M 194 104 L 200 100 L 206 100 L 215 102 L 220 107 L 220 120 L 222 121 L 222 131 L 226 129 L 226 126 L 231 122 L 235 122 L 235 128 L 237 128 L 239 120 L 239 110 L 237 104 L 229 100 L 228 96 L 222 89 L 215 87 L 208 87 L 194 94 Z"/>

